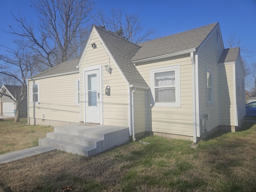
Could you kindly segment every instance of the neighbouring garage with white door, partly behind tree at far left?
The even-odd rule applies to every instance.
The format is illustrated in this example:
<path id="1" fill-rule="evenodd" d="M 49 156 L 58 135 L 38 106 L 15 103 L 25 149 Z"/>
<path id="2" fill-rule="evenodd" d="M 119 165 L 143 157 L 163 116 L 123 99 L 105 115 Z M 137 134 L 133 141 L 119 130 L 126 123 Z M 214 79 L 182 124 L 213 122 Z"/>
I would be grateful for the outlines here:
<path id="1" fill-rule="evenodd" d="M 16 100 L 16 94 L 17 92 L 18 95 L 20 95 L 22 86 L 18 85 L 3 85 L 1 90 L 0 90 L 0 115 L 1 116 L 10 116 L 14 117 L 15 113 L 15 104 L 14 100 Z M 6 96 L 9 95 L 10 97 Z M 27 99 L 22 101 L 21 108 L 20 108 L 20 117 L 21 118 L 26 118 L 27 117 L 27 112 L 28 112 L 28 102 Z"/>

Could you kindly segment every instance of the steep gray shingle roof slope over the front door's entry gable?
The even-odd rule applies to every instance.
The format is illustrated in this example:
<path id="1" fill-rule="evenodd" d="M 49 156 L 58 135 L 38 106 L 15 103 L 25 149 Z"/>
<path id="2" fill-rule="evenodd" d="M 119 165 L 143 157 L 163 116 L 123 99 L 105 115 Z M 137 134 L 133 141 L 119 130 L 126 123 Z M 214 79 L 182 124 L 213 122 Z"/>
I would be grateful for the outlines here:
<path id="1" fill-rule="evenodd" d="M 126 76 L 130 84 L 148 86 L 144 78 L 138 72 L 137 68 L 130 62 L 132 56 L 138 51 L 140 46 L 115 34 L 108 32 L 98 26 L 95 26 L 102 40 L 110 50 L 114 60 Z"/>

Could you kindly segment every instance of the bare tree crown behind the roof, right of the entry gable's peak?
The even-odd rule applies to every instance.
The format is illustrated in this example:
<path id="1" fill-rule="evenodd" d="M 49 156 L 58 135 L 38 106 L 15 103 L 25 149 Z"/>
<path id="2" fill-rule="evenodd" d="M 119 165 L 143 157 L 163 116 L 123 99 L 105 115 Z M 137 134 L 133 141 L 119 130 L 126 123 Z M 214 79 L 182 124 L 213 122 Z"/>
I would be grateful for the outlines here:
<path id="1" fill-rule="evenodd" d="M 134 43 L 152 40 L 155 34 L 154 29 L 145 29 L 145 26 L 142 25 L 140 12 L 129 14 L 119 8 L 112 9 L 110 15 L 107 16 L 101 10 L 96 14 L 95 22 L 106 30 Z"/>

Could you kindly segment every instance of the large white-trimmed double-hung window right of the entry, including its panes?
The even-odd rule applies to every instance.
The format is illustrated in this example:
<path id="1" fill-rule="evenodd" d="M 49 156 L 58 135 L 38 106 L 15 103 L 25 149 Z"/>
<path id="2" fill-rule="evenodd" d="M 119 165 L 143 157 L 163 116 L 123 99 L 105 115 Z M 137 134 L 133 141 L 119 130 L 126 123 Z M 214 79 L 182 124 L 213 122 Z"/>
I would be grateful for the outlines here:
<path id="1" fill-rule="evenodd" d="M 155 106 L 180 107 L 180 66 L 151 69 L 150 88 Z"/>

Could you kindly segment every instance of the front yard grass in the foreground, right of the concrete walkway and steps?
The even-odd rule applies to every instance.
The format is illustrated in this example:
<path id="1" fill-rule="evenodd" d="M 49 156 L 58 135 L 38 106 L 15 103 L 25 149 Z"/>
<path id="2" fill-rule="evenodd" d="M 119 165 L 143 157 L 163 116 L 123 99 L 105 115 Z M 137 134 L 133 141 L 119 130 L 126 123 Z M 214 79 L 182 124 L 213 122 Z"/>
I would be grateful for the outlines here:
<path id="1" fill-rule="evenodd" d="M 148 136 L 87 158 L 51 151 L 0 164 L 0 192 L 254 192 L 256 125 L 199 142 Z"/>

